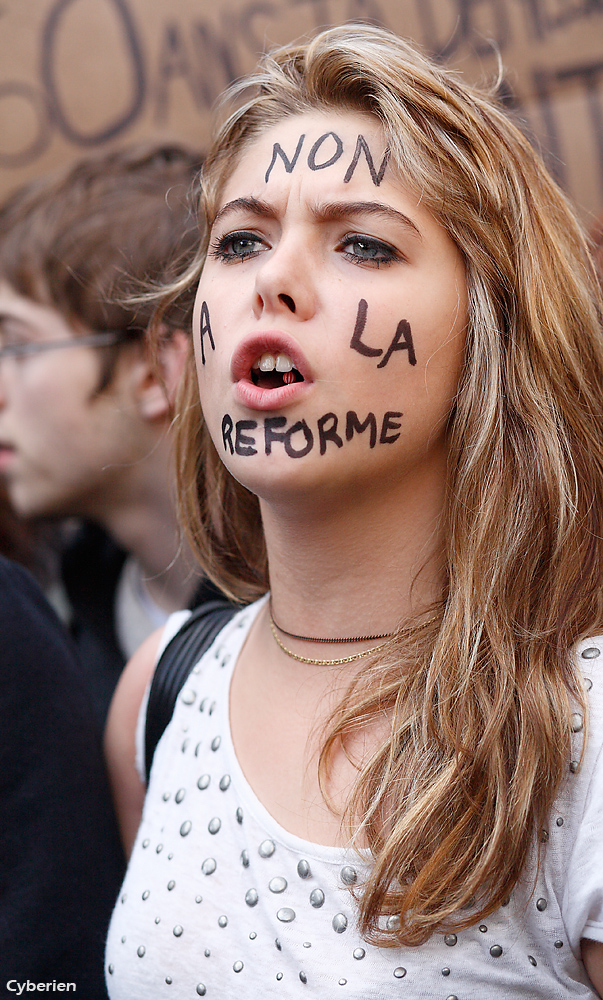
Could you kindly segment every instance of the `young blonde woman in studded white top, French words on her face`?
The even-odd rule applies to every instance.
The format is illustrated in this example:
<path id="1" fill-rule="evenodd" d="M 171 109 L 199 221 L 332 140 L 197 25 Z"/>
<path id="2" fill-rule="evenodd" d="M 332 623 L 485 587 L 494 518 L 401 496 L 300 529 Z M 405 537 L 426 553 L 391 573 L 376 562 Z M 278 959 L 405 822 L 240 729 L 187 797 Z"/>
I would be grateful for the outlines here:
<path id="1" fill-rule="evenodd" d="M 118 692 L 111 998 L 603 995 L 579 227 L 493 99 L 380 29 L 281 49 L 239 92 L 171 294 L 198 279 L 191 539 L 255 603 L 190 675 L 137 834 L 134 730 L 182 617 Z"/>

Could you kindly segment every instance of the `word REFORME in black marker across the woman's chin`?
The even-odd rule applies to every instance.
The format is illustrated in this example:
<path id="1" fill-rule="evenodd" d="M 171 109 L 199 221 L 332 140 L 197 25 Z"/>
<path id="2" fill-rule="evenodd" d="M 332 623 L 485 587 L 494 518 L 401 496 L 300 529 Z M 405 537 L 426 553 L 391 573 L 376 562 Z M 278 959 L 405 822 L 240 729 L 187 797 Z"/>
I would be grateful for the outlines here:
<path id="1" fill-rule="evenodd" d="M 348 410 L 340 427 L 336 413 L 324 413 L 316 422 L 316 432 L 312 431 L 305 420 L 298 420 L 288 426 L 287 417 L 266 417 L 262 442 L 264 454 L 271 455 L 273 448 L 282 446 L 289 458 L 304 458 L 318 445 L 319 454 L 324 455 L 329 442 L 336 448 L 343 448 L 344 443 L 367 431 L 369 448 L 374 448 L 377 440 L 379 444 L 393 444 L 400 437 L 401 416 L 402 413 L 397 410 L 388 410 L 384 413 L 379 428 L 374 413 L 367 413 L 361 421 L 355 410 Z M 258 428 L 257 420 L 237 420 L 235 423 L 230 413 L 225 413 L 222 417 L 224 451 L 243 458 L 257 455 L 261 445 L 253 432 Z"/>

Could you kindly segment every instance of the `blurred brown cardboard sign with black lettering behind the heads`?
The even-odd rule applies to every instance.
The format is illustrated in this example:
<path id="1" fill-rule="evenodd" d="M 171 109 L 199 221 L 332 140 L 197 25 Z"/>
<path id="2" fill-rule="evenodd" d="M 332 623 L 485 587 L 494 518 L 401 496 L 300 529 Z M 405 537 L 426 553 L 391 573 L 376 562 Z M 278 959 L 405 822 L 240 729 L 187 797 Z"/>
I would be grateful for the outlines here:
<path id="1" fill-rule="evenodd" d="M 265 45 L 371 18 L 509 100 L 590 228 L 603 212 L 603 0 L 0 0 L 0 197 L 144 136 L 203 149 Z"/>

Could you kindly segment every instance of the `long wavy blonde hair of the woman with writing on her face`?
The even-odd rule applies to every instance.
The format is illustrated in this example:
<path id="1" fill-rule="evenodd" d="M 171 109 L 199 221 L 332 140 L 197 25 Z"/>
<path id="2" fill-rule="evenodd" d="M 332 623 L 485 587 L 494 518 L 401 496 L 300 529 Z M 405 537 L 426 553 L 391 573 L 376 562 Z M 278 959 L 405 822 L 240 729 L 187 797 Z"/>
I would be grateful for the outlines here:
<path id="1" fill-rule="evenodd" d="M 359 921 L 383 946 L 418 944 L 509 896 L 569 772 L 571 713 L 586 711 L 572 646 L 603 622 L 600 291 L 574 212 L 520 130 L 414 45 L 376 27 L 333 28 L 265 56 L 230 96 L 240 106 L 204 170 L 208 230 L 258 135 L 290 115 L 350 110 L 379 121 L 403 183 L 465 259 L 445 592 L 435 621 L 367 663 L 319 764 L 326 789 L 335 748 L 388 712 L 389 738 L 359 768 L 347 812 L 351 833 L 364 817 L 374 858 Z M 168 299 L 190 288 L 204 254 Z M 209 438 L 192 361 L 178 465 L 205 571 L 237 600 L 264 593 L 258 502 Z"/>

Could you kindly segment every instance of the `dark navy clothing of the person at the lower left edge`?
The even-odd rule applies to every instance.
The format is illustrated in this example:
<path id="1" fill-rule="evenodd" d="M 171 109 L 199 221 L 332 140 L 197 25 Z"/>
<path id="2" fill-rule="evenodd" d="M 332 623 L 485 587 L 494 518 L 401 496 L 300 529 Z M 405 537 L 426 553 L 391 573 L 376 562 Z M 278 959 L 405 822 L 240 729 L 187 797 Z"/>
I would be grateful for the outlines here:
<path id="1" fill-rule="evenodd" d="M 5 996 L 75 983 L 104 1000 L 124 858 L 100 740 L 69 636 L 1 556 L 0 630 L 0 983 Z"/>

